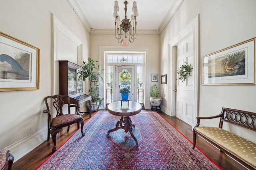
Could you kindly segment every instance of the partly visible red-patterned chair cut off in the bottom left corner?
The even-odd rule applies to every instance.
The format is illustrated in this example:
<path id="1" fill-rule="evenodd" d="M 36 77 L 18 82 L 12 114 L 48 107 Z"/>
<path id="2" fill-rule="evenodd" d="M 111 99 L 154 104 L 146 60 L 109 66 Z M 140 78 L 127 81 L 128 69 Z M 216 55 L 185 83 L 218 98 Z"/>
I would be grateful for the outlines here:
<path id="1" fill-rule="evenodd" d="M 0 149 L 0 170 L 11 170 L 14 157 L 10 150 Z"/>

